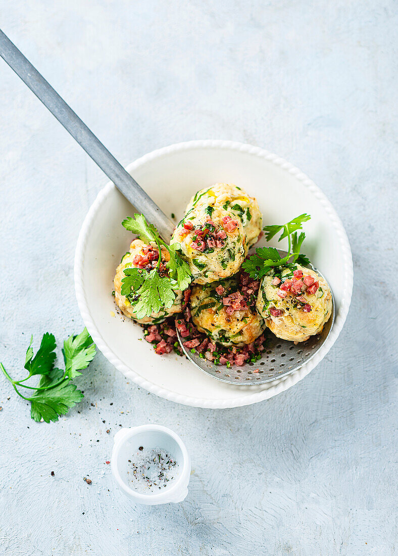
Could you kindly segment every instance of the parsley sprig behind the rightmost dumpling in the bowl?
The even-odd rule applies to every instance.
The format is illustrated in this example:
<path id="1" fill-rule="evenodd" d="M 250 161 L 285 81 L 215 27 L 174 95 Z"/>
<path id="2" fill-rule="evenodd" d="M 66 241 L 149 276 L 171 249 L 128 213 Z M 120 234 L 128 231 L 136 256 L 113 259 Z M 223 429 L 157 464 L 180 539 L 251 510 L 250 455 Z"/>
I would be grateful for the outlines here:
<path id="1" fill-rule="evenodd" d="M 290 222 L 286 222 L 286 224 L 265 226 L 265 239 L 267 241 L 270 241 L 280 231 L 282 231 L 282 234 L 278 241 L 287 237 L 288 255 L 281 257 L 275 247 L 257 247 L 256 253 L 243 262 L 243 269 L 250 277 L 260 280 L 270 270 L 278 266 L 292 268 L 295 266 L 295 262 L 299 262 L 302 265 L 309 264 L 309 259 L 305 255 L 300 254 L 305 233 L 301 232 L 300 235 L 297 235 L 297 230 L 301 230 L 302 223 L 310 220 L 310 218 L 311 216 L 308 214 L 301 214 Z"/>

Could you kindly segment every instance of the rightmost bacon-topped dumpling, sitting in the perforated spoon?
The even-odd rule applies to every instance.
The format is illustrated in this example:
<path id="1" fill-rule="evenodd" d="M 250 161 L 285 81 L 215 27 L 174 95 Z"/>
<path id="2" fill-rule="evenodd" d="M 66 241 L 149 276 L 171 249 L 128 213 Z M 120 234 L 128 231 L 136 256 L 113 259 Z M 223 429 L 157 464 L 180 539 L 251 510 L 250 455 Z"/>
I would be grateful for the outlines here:
<path id="1" fill-rule="evenodd" d="M 257 311 L 266 326 L 283 340 L 304 342 L 319 334 L 332 314 L 332 294 L 314 270 L 296 265 L 263 277 Z M 280 271 L 280 269 L 278 269 Z"/>

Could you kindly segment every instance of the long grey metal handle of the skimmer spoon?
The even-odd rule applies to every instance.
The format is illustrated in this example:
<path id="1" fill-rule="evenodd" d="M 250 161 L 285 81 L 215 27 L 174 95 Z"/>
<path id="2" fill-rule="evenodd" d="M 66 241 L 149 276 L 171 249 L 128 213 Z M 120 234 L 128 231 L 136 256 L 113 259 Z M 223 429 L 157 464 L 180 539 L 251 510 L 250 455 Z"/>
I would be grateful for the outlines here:
<path id="1" fill-rule="evenodd" d="M 57 118 L 58 122 L 62 123 L 63 127 L 84 148 L 93 161 L 106 173 L 108 178 L 115 183 L 122 195 L 138 211 L 142 212 L 149 222 L 157 227 L 165 240 L 170 239 L 174 227 L 172 222 L 1 29 L 0 56 L 21 77 L 22 81 L 26 83 L 29 89 L 42 101 L 43 105 Z"/>

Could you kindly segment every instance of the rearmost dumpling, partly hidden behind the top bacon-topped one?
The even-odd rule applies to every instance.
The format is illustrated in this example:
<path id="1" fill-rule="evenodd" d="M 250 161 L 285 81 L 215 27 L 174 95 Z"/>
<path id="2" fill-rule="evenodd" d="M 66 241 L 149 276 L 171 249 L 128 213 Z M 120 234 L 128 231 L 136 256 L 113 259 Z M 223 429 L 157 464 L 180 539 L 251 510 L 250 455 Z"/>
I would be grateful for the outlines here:
<path id="1" fill-rule="evenodd" d="M 247 195 L 241 187 L 232 183 L 216 183 L 202 189 L 194 195 L 186 208 L 186 214 L 192 207 L 212 206 L 222 207 L 232 215 L 237 216 L 243 225 L 248 247 L 254 245 L 260 235 L 262 215 L 256 198 Z"/>

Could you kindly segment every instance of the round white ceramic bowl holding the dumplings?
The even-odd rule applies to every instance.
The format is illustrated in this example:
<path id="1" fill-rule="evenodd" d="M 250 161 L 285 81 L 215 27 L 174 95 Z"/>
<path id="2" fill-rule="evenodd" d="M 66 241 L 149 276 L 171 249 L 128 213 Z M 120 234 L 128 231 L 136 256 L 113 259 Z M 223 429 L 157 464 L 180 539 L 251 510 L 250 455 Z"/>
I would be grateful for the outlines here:
<path id="1" fill-rule="evenodd" d="M 336 320 L 318 353 L 300 369 L 260 386 L 234 386 L 212 379 L 185 358 L 158 356 L 142 329 L 119 315 L 111 291 L 115 269 L 131 233 L 121 225 L 133 208 L 113 183 L 99 193 L 83 222 L 74 280 L 84 323 L 106 358 L 130 380 L 158 396 L 203 408 L 229 408 L 265 400 L 304 378 L 340 334 L 352 293 L 352 257 L 344 227 L 325 195 L 304 173 L 258 147 L 231 141 L 190 141 L 161 148 L 127 167 L 161 209 L 178 221 L 191 195 L 216 182 L 230 182 L 257 197 L 265 224 L 282 224 L 307 212 L 304 252 L 334 292 Z M 260 245 L 263 242 L 260 242 Z M 285 245 L 271 245 L 281 247 Z"/>

